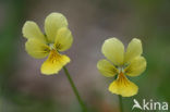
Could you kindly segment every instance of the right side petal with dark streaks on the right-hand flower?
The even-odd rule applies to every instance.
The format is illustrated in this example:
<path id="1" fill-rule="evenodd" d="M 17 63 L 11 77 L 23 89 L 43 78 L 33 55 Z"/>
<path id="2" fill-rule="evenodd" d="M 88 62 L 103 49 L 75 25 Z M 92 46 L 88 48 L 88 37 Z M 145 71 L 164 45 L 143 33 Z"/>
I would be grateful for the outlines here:
<path id="1" fill-rule="evenodd" d="M 124 70 L 129 76 L 138 76 L 146 70 L 146 60 L 144 57 L 137 57 L 130 62 L 130 65 Z"/>

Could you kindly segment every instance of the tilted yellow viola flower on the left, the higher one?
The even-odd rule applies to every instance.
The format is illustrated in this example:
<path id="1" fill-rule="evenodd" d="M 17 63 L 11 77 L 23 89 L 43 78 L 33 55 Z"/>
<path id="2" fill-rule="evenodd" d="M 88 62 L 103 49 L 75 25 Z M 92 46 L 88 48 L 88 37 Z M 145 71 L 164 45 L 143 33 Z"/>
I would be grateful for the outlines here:
<path id="1" fill-rule="evenodd" d="M 46 17 L 45 34 L 35 22 L 27 21 L 23 26 L 23 36 L 27 39 L 25 49 L 29 55 L 36 59 L 49 55 L 41 65 L 42 74 L 56 74 L 70 62 L 69 57 L 60 53 L 73 42 L 68 21 L 61 13 L 51 13 Z"/>

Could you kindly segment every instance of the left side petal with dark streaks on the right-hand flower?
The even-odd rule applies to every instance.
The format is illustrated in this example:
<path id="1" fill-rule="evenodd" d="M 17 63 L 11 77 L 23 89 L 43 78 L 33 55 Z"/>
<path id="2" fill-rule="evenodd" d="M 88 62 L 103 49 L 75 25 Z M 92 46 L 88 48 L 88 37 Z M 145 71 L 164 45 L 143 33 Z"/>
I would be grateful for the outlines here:
<path id="1" fill-rule="evenodd" d="M 100 60 L 100 61 L 98 61 L 97 69 L 106 77 L 112 77 L 112 76 L 114 76 L 118 73 L 118 70 L 116 69 L 116 66 L 112 65 L 107 60 Z"/>

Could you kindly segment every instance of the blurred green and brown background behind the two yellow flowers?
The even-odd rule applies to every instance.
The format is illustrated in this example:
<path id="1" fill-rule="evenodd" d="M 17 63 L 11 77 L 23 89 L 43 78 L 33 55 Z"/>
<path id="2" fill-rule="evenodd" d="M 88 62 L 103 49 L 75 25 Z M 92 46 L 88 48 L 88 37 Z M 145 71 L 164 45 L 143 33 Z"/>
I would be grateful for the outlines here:
<path id="1" fill-rule="evenodd" d="M 113 79 L 96 67 L 104 40 L 112 36 L 125 45 L 142 39 L 147 59 L 145 73 L 131 79 L 138 95 L 123 98 L 125 112 L 134 98 L 170 103 L 170 0 L 1 0 L 0 112 L 81 112 L 63 71 L 44 76 L 44 60 L 25 52 L 23 24 L 35 21 L 42 29 L 51 12 L 69 21 L 74 43 L 65 52 L 72 59 L 66 66 L 92 112 L 119 112 L 118 96 L 108 91 Z"/>

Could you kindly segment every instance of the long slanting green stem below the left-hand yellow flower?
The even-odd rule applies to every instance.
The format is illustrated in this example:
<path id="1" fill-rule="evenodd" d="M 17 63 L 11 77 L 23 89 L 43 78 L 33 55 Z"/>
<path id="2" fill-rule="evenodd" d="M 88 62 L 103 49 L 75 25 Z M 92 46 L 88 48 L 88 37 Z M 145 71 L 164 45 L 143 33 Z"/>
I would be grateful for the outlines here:
<path id="1" fill-rule="evenodd" d="M 85 104 L 84 104 L 84 102 L 83 102 L 83 100 L 82 100 L 82 98 L 81 98 L 81 96 L 80 96 L 75 85 L 74 85 L 73 79 L 71 78 L 71 75 L 70 75 L 68 69 L 65 66 L 63 66 L 63 70 L 64 70 L 64 73 L 65 73 L 65 75 L 66 75 L 66 77 L 68 77 L 68 79 L 70 82 L 70 85 L 71 85 L 71 87 L 72 87 L 72 89 L 73 89 L 73 91 L 74 91 L 74 94 L 75 94 L 75 96 L 76 96 L 81 107 L 82 107 L 82 112 L 87 112 L 86 107 L 85 107 Z"/>

